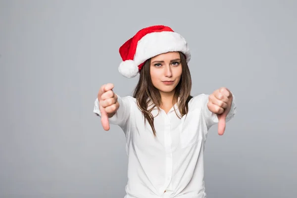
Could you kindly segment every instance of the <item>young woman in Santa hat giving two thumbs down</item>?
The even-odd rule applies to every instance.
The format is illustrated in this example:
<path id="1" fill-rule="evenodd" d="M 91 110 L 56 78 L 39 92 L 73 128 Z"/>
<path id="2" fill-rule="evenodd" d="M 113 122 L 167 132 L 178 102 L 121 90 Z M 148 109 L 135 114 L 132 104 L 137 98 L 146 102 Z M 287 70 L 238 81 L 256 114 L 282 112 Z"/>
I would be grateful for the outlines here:
<path id="1" fill-rule="evenodd" d="M 192 97 L 185 39 L 170 27 L 144 28 L 119 49 L 119 72 L 140 78 L 133 97 L 120 97 L 113 84 L 99 89 L 94 113 L 104 130 L 118 125 L 126 137 L 125 198 L 205 198 L 203 150 L 209 128 L 236 113 L 227 88 Z"/>

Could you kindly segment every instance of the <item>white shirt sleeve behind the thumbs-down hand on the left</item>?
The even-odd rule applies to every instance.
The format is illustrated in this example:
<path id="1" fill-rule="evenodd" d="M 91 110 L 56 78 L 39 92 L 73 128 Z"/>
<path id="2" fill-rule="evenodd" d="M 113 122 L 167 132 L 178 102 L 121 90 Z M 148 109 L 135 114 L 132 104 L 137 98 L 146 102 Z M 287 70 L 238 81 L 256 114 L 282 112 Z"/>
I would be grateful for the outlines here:
<path id="1" fill-rule="evenodd" d="M 108 118 L 108 120 L 109 120 L 109 124 L 118 125 L 121 128 L 124 128 L 130 117 L 131 103 L 130 103 L 129 97 L 121 98 L 118 95 L 117 97 L 118 97 L 117 100 L 119 102 L 119 108 L 112 117 Z M 98 98 L 95 99 L 93 112 L 97 116 L 101 117 Z"/>

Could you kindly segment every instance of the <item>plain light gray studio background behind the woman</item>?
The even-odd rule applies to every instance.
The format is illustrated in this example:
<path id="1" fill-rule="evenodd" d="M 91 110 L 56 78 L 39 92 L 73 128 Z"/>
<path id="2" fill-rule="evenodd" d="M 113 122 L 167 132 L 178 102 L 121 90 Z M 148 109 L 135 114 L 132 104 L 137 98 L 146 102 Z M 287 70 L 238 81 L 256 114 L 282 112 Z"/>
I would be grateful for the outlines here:
<path id="1" fill-rule="evenodd" d="M 237 99 L 207 139 L 208 198 L 296 198 L 296 19 L 295 0 L 0 0 L 0 197 L 124 197 L 124 134 L 93 104 L 105 83 L 131 95 L 118 48 L 165 24 L 192 49 L 192 95 Z"/>

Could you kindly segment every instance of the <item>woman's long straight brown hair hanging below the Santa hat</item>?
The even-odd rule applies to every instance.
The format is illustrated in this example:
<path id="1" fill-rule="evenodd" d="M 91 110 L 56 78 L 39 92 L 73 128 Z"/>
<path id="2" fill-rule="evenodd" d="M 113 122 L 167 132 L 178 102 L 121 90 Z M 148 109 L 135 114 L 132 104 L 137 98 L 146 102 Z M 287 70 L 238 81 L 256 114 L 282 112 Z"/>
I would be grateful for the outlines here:
<path id="1" fill-rule="evenodd" d="M 179 52 L 181 58 L 181 65 L 182 65 L 182 76 L 180 82 L 175 88 L 175 93 L 173 96 L 173 104 L 178 101 L 178 108 L 181 115 L 185 115 L 188 112 L 188 102 L 191 98 L 193 98 L 191 93 L 192 88 L 192 79 L 190 70 L 186 61 L 186 57 L 182 52 Z M 150 113 L 151 110 L 157 106 L 159 108 L 161 104 L 161 95 L 158 89 L 156 89 L 150 78 L 150 59 L 148 59 L 145 64 L 143 65 L 140 71 L 140 78 L 138 84 L 135 87 L 133 97 L 137 100 L 137 105 L 142 111 L 145 122 L 148 120 L 148 123 L 153 131 L 153 135 L 156 135 L 156 131 L 153 124 L 153 116 Z M 153 102 L 154 105 L 150 109 L 148 109 L 148 105 L 150 100 Z M 176 111 L 175 111 L 176 112 Z M 176 113 L 177 114 L 177 113 Z M 178 115 L 178 114 L 177 114 Z M 181 118 L 181 117 L 180 117 Z"/>

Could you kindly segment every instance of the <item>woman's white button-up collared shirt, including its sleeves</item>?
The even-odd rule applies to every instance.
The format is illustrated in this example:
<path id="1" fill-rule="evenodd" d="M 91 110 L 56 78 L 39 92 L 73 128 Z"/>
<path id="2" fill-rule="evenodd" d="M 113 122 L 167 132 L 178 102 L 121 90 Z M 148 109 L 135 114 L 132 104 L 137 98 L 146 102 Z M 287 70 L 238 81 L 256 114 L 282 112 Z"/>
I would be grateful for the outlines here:
<path id="1" fill-rule="evenodd" d="M 117 95 L 118 96 L 118 95 Z M 218 122 L 207 108 L 208 95 L 201 94 L 189 102 L 189 112 L 179 119 L 174 108 L 152 110 L 156 137 L 144 121 L 136 99 L 119 97 L 120 104 L 109 123 L 122 128 L 126 136 L 128 182 L 125 198 L 206 198 L 203 151 L 208 129 Z M 100 116 L 99 101 L 94 113 Z M 236 113 L 235 97 L 227 115 Z M 158 114 L 158 115 L 157 115 Z M 164 192 L 166 191 L 166 192 Z"/>

